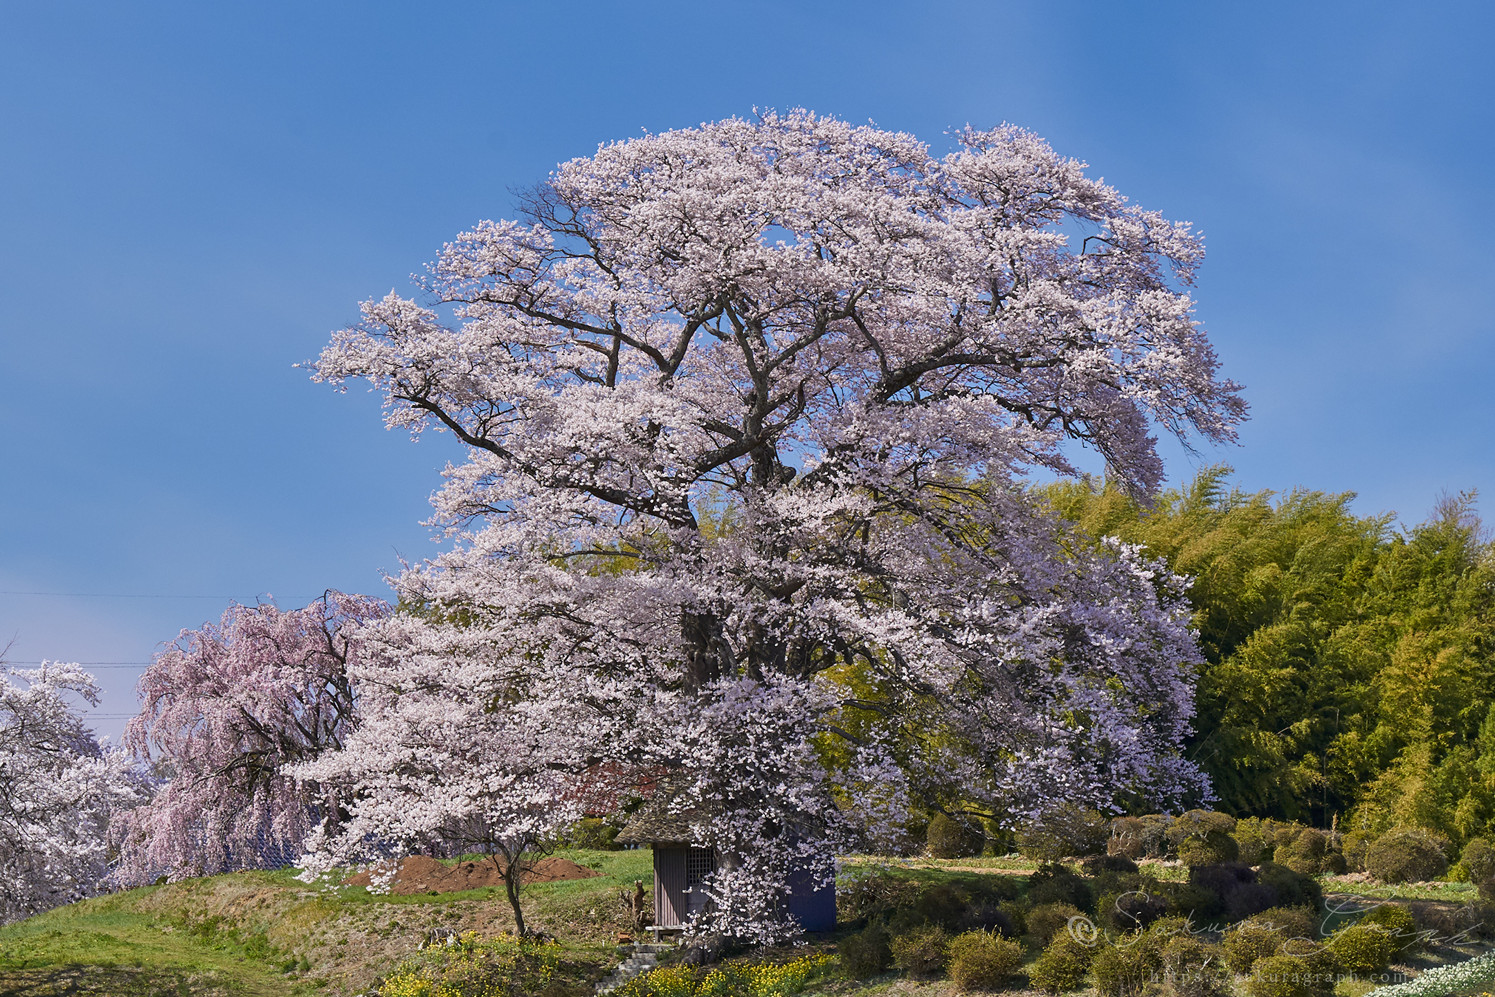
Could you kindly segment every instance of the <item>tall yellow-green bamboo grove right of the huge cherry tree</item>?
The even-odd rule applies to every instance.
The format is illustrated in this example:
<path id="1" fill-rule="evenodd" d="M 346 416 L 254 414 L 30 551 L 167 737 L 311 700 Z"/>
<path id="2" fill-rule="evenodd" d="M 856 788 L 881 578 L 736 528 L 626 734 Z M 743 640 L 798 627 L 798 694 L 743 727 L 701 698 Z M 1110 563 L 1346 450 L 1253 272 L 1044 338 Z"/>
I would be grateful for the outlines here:
<path id="1" fill-rule="evenodd" d="M 1495 556 L 1473 495 L 1395 529 L 1354 516 L 1350 493 L 1247 493 L 1227 475 L 1205 469 L 1151 507 L 1085 481 L 1039 489 L 1091 537 L 1193 580 L 1190 750 L 1221 809 L 1495 836 Z"/>

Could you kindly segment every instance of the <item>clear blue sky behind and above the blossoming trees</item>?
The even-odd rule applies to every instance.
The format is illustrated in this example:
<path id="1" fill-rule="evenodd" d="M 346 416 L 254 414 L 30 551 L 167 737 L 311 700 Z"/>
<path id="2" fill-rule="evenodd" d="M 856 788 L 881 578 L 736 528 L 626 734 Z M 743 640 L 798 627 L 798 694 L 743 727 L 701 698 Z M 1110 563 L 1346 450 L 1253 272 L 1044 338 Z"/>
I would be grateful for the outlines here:
<path id="1" fill-rule="evenodd" d="M 229 598 L 383 593 L 460 454 L 292 365 L 556 161 L 753 106 L 1012 121 L 1193 221 L 1253 419 L 1172 480 L 1492 495 L 1491 10 L 0 4 L 0 640 L 141 662 Z"/>

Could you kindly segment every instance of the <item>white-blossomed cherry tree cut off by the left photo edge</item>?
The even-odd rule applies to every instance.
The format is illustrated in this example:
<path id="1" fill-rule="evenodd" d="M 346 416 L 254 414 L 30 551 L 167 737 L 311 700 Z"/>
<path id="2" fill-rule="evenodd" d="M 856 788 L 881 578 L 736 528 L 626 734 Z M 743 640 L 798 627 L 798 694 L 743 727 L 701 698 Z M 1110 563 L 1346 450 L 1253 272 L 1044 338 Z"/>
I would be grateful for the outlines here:
<path id="1" fill-rule="evenodd" d="M 0 674 L 0 924 L 97 892 L 111 815 L 148 794 L 129 755 L 100 744 L 69 697 L 99 704 L 78 665 Z"/>

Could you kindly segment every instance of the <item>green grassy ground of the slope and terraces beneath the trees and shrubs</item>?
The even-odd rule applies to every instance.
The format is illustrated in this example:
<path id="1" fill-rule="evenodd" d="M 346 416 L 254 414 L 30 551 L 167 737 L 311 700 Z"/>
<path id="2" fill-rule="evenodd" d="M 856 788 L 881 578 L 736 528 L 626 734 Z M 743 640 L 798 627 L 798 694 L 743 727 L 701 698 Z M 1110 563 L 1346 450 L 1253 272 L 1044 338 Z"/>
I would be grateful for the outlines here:
<path id="1" fill-rule="evenodd" d="M 652 879 L 652 855 L 561 855 L 601 874 L 526 888 L 525 918 L 561 943 L 547 994 L 580 997 L 617 963 L 617 936 L 626 928 L 617 897 L 631 891 L 635 879 Z M 1009 876 L 1021 885 L 1035 864 L 1006 856 L 937 861 L 861 855 L 848 856 L 843 867 L 848 874 L 876 868 L 931 883 Z M 1145 871 L 1159 879 L 1186 877 L 1174 864 L 1148 862 Z M 1474 895 L 1468 883 L 1392 888 L 1331 876 L 1323 885 L 1337 895 L 1375 898 L 1459 903 Z M 99 897 L 0 928 L 0 994 L 353 997 L 399 966 L 434 928 L 492 939 L 511 927 L 508 903 L 496 888 L 381 897 L 362 886 L 312 888 L 290 870 L 232 873 Z M 810 951 L 833 952 L 836 942 L 836 936 L 815 939 Z M 791 952 L 758 955 L 788 958 Z M 916 984 L 896 973 L 864 984 L 831 973 L 812 990 L 855 991 L 857 997 L 954 993 L 949 984 Z"/>

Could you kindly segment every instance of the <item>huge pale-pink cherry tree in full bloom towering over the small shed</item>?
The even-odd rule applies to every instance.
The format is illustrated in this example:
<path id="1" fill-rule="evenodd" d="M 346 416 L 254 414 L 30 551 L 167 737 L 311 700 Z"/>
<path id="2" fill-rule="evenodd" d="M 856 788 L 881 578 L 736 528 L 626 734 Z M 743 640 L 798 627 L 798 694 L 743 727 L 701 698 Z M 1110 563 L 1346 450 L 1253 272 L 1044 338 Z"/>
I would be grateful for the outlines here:
<path id="1" fill-rule="evenodd" d="M 673 773 L 721 855 L 695 930 L 749 939 L 900 807 L 1205 791 L 1180 580 L 1021 489 L 1087 445 L 1145 496 L 1153 427 L 1233 438 L 1202 242 L 1021 129 L 954 139 L 792 112 L 605 145 L 449 244 L 426 303 L 335 335 L 317 378 L 466 457 L 435 498 L 451 549 L 396 580 L 417 611 L 357 670 L 404 694 L 314 770 L 356 797 L 323 862 L 362 815 L 402 800 L 413 836 L 474 797 L 374 774 L 443 704 L 472 750 L 525 731 L 516 779 Z M 468 764 L 492 782 L 505 743 Z"/>

